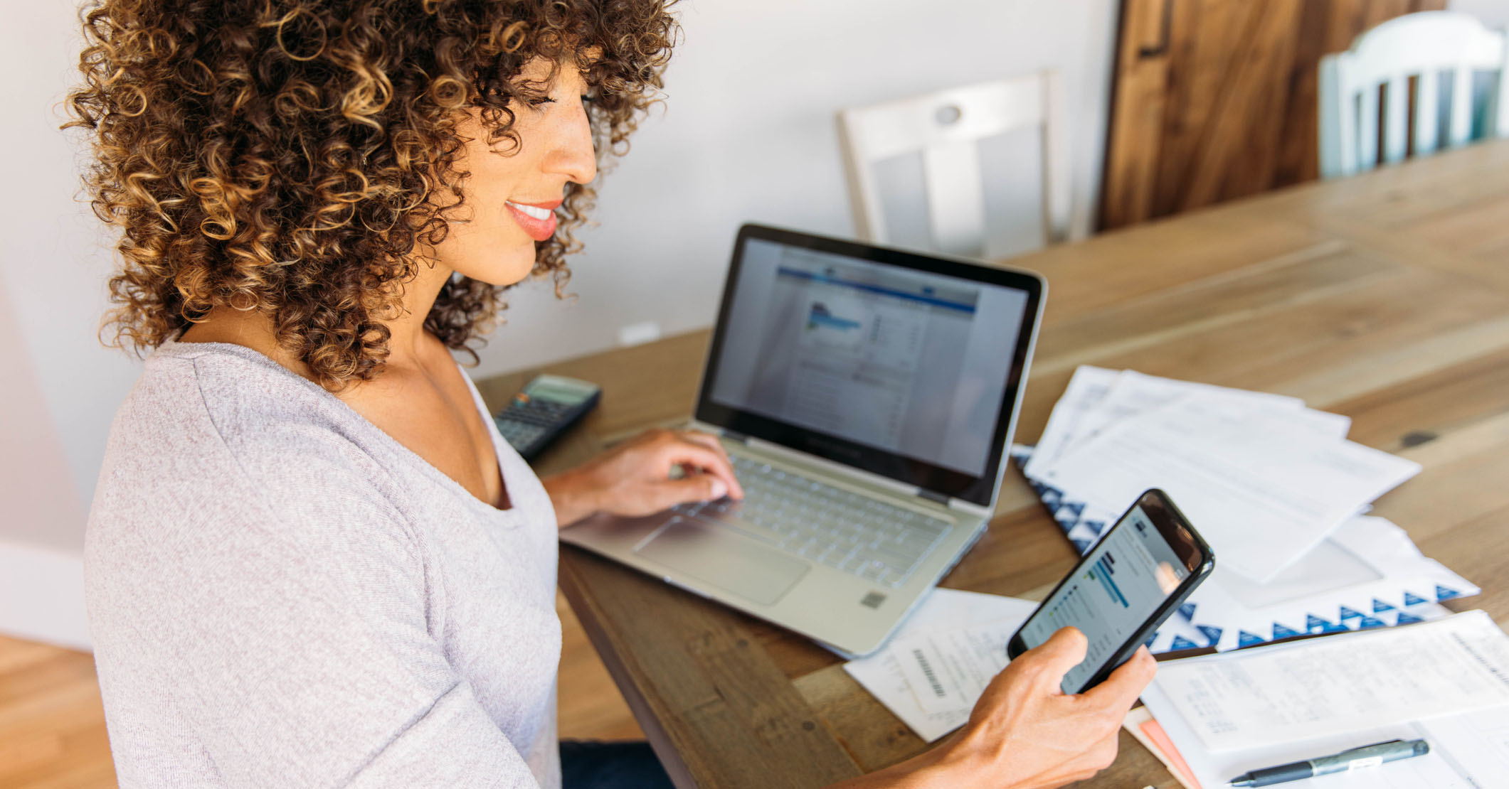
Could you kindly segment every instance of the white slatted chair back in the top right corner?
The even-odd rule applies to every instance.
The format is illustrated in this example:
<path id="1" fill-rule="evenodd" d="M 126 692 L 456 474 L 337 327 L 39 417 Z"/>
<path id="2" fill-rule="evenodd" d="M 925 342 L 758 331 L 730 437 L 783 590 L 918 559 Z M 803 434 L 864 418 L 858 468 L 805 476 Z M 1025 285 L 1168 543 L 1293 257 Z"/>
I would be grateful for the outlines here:
<path id="1" fill-rule="evenodd" d="M 1396 17 L 1357 36 L 1352 48 L 1320 59 L 1320 177 L 1370 170 L 1378 161 L 1378 94 L 1384 100 L 1382 151 L 1393 164 L 1408 149 L 1409 77 L 1414 91 L 1414 152 L 1464 145 L 1473 136 L 1473 74 L 1497 71 L 1483 113 L 1483 136 L 1509 136 L 1509 47 L 1504 33 L 1453 11 Z M 1443 74 L 1452 74 L 1446 142 L 1440 142 Z"/>

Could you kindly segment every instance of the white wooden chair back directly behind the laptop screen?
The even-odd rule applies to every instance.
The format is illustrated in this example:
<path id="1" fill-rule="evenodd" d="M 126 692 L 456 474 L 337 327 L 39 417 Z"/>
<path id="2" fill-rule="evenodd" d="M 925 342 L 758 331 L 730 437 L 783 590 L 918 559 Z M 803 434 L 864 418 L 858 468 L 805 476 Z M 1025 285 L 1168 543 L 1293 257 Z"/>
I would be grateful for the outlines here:
<path id="1" fill-rule="evenodd" d="M 985 192 L 976 143 L 1034 125 L 1041 128 L 1043 140 L 1044 238 L 1049 243 L 1068 238 L 1070 164 L 1055 72 L 850 107 L 839 110 L 837 122 L 854 225 L 862 238 L 887 240 L 875 164 L 920 151 L 934 247 L 984 255 Z"/>

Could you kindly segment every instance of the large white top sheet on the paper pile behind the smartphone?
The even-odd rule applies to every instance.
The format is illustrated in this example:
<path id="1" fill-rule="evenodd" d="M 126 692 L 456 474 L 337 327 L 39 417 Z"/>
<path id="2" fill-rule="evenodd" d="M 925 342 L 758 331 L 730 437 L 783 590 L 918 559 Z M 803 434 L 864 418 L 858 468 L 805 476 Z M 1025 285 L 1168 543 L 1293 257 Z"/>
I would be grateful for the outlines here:
<path id="1" fill-rule="evenodd" d="M 1047 466 L 1043 481 L 1108 510 L 1162 487 L 1218 566 L 1266 581 L 1420 471 L 1281 413 L 1194 392 L 1102 430 Z"/>

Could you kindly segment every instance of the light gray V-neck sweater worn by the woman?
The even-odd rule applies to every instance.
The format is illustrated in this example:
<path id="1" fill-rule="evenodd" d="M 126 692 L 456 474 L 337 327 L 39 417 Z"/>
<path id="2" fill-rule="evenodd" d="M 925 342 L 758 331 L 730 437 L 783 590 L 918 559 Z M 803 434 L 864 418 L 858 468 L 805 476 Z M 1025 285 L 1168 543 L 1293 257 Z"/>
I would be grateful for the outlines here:
<path id="1" fill-rule="evenodd" d="M 85 555 L 121 784 L 558 786 L 555 516 L 493 444 L 510 510 L 257 352 L 158 348 Z"/>

